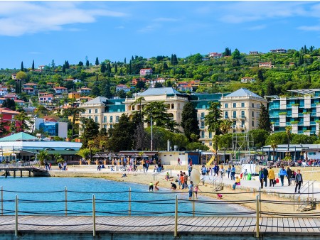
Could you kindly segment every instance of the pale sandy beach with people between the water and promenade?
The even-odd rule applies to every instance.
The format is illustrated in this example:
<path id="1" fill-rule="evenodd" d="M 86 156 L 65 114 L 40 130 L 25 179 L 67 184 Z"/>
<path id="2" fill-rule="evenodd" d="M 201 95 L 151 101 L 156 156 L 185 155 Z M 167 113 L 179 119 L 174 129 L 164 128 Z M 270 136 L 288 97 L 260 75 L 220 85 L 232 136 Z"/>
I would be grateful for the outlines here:
<path id="1" fill-rule="evenodd" d="M 176 170 L 172 170 L 173 168 L 176 168 Z M 165 166 L 166 169 L 171 169 L 172 175 L 176 177 L 176 175 L 179 172 L 179 168 L 186 171 L 186 166 Z M 201 165 L 196 165 L 195 168 L 201 168 Z M 152 170 L 151 170 L 152 169 Z M 307 170 L 311 170 L 307 168 Z M 127 177 L 122 178 L 122 175 L 126 173 Z M 131 182 L 139 183 L 142 185 L 149 185 L 149 182 L 156 182 L 159 181 L 159 188 L 160 189 L 166 189 L 169 190 L 171 187 L 171 181 L 174 181 L 175 178 L 171 178 L 170 180 L 165 179 L 166 170 L 162 173 L 154 175 L 153 166 L 149 168 L 148 173 L 143 173 L 143 170 L 139 168 L 138 172 L 111 172 L 110 169 L 102 169 L 100 171 L 97 170 L 96 165 L 69 165 L 67 171 L 59 171 L 57 168 L 53 167 L 53 170 L 50 171 L 50 175 L 52 177 L 76 177 L 76 178 L 105 178 L 107 180 L 113 180 L 113 181 L 119 181 L 119 182 L 128 182 L 128 187 Z M 306 175 L 306 173 L 305 173 Z M 314 174 L 314 175 L 319 175 Z M 246 180 L 242 180 L 246 181 Z M 230 182 L 230 180 L 229 180 Z M 248 181 L 252 182 L 252 181 Z M 245 183 L 245 182 L 244 182 Z M 257 183 L 257 180 L 256 182 Z M 245 184 L 244 184 L 245 185 Z M 213 185 L 210 185 L 208 183 L 201 182 L 199 184 L 200 192 L 198 192 L 198 195 L 206 195 L 208 197 L 216 198 L 216 192 L 213 191 Z M 289 189 L 284 189 L 288 190 Z M 180 191 L 187 191 L 187 190 L 180 190 Z M 257 187 L 239 187 L 235 191 L 232 190 L 231 184 L 224 183 L 224 189 L 219 191 L 220 194 L 223 195 L 223 200 L 226 201 L 239 201 L 239 200 L 256 200 L 256 196 L 258 195 Z M 289 198 L 289 196 L 292 195 L 285 195 L 283 192 L 277 192 L 277 189 L 272 190 L 272 192 L 265 192 L 263 191 L 261 194 L 262 200 L 275 200 L 275 201 L 292 201 L 292 198 Z M 237 203 L 238 204 L 238 203 Z M 241 204 L 242 207 L 249 207 L 250 209 L 255 209 L 256 204 L 255 203 L 244 203 Z M 319 205 L 319 204 L 318 204 Z M 262 211 L 265 212 L 281 212 L 281 213 L 294 213 L 293 204 L 277 204 L 274 203 L 265 203 L 262 202 Z M 297 207 L 297 206 L 296 206 Z M 319 212 L 319 207 L 317 209 L 309 211 L 311 212 Z"/>

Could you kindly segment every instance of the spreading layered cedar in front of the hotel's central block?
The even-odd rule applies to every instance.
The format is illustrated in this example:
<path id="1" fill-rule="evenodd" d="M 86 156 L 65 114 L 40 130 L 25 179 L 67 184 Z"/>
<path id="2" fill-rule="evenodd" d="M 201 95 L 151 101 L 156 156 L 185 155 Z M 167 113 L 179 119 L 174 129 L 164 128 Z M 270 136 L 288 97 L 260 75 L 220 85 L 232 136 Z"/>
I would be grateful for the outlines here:
<path id="1" fill-rule="evenodd" d="M 169 131 L 178 131 L 176 129 L 176 122 L 171 120 L 171 114 L 166 112 L 166 104 L 164 101 L 157 101 L 157 102 L 149 102 L 144 106 L 142 114 L 146 116 L 146 122 L 149 122 L 151 117 L 152 121 L 156 124 L 156 126 L 163 127 L 168 129 Z"/>

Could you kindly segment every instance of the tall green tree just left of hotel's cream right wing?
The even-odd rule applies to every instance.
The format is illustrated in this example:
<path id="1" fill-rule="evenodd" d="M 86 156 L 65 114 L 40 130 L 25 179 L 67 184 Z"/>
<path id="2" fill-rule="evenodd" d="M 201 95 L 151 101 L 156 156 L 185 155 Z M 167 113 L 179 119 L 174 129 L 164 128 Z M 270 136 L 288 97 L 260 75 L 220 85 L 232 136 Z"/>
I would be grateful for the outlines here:
<path id="1" fill-rule="evenodd" d="M 208 131 L 215 133 L 215 135 L 219 135 L 221 123 L 220 119 L 222 116 L 220 103 L 211 102 L 208 111 L 208 114 L 205 116 L 205 124 L 208 126 Z"/>

